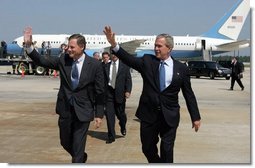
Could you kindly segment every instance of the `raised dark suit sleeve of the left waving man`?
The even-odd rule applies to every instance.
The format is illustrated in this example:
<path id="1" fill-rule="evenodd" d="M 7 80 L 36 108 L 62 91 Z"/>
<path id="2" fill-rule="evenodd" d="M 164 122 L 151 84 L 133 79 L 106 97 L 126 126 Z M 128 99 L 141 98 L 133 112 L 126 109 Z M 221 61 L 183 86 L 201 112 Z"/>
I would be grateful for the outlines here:
<path id="1" fill-rule="evenodd" d="M 58 68 L 59 57 L 42 56 L 35 49 L 30 54 L 28 54 L 28 56 L 33 60 L 33 62 L 36 65 L 59 70 Z"/>

